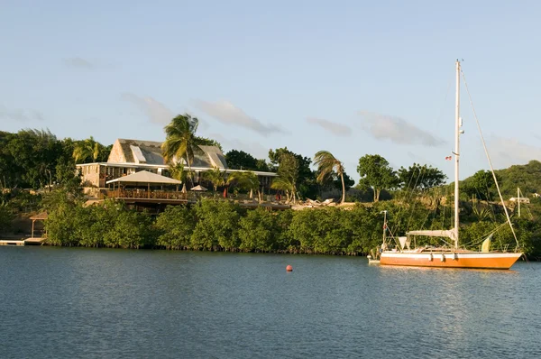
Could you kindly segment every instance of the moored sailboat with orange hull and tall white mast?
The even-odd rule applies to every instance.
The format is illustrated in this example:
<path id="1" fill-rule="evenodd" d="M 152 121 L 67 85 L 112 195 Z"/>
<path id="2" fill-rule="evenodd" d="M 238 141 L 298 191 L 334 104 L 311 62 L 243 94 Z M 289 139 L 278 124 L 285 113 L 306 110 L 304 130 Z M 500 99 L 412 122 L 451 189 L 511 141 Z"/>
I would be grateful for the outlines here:
<path id="1" fill-rule="evenodd" d="M 418 267 L 438 268 L 476 268 L 476 269 L 499 269 L 509 270 L 518 261 L 523 253 L 519 252 L 491 252 L 491 236 L 484 240 L 481 251 L 475 252 L 466 250 L 459 245 L 459 181 L 458 170 L 460 161 L 460 135 L 463 133 L 462 118 L 460 117 L 460 74 L 461 62 L 456 60 L 456 102 L 455 102 L 455 128 L 454 128 L 454 228 L 448 230 L 422 230 L 409 231 L 406 235 L 399 237 L 397 248 L 389 249 L 383 235 L 381 244 L 380 264 L 401 265 Z M 507 213 L 507 212 L 506 212 Z M 509 226 L 511 226 L 508 216 Z M 387 220 L 383 225 L 383 231 L 387 228 Z M 512 227 L 511 227 L 512 228 Z M 514 232 L 513 232 L 514 233 Z M 446 237 L 451 240 L 450 247 L 417 247 L 410 248 L 411 237 L 415 235 Z"/>

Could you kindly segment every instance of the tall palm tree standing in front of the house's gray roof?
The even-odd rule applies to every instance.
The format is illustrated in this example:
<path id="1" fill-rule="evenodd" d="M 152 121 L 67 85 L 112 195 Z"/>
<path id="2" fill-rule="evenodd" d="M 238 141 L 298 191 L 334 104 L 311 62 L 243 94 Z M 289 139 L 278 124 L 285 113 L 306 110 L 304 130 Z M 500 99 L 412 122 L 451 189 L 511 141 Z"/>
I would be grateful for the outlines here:
<path id="1" fill-rule="evenodd" d="M 165 142 L 161 144 L 163 159 L 166 162 L 173 160 L 184 159 L 188 164 L 188 174 L 194 185 L 194 179 L 191 176 L 191 164 L 194 161 L 194 156 L 199 149 L 199 140 L 196 136 L 199 120 L 197 117 L 184 114 L 173 118 L 164 130 L 166 133 Z"/>

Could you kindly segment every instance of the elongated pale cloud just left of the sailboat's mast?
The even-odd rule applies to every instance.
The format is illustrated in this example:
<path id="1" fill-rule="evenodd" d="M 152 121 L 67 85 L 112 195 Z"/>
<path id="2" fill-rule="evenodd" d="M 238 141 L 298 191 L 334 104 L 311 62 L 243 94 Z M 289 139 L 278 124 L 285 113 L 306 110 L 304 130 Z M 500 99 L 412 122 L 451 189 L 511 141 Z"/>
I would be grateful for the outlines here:
<path id="1" fill-rule="evenodd" d="M 374 114 L 367 111 L 359 112 L 364 120 L 364 129 L 377 139 L 390 140 L 399 144 L 423 144 L 436 147 L 445 141 L 432 133 L 421 130 L 403 118 L 392 115 Z"/>

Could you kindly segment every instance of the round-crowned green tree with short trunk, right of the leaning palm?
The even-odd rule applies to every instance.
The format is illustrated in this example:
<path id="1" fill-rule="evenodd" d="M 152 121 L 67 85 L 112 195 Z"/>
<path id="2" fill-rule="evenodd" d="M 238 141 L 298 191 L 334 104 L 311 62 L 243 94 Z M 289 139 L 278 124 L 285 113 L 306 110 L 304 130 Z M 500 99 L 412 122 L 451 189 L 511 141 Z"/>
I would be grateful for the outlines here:
<path id="1" fill-rule="evenodd" d="M 398 186 L 395 171 L 379 154 L 367 154 L 361 157 L 357 172 L 361 176 L 359 184 L 374 190 L 374 202 L 380 200 L 381 189 L 393 189 Z"/>

